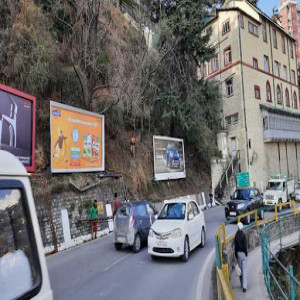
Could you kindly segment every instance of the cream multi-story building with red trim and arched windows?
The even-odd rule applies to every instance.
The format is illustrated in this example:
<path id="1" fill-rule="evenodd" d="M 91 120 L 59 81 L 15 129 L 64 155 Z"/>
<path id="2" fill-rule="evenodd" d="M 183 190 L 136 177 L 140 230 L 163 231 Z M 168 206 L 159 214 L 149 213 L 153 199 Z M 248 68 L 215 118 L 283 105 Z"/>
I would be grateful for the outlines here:
<path id="1" fill-rule="evenodd" d="M 227 149 L 241 170 L 265 187 L 272 174 L 299 178 L 300 110 L 296 42 L 247 0 L 227 0 L 209 21 L 215 57 L 203 64 L 206 80 L 222 91 Z"/>

